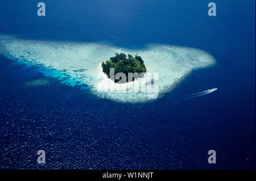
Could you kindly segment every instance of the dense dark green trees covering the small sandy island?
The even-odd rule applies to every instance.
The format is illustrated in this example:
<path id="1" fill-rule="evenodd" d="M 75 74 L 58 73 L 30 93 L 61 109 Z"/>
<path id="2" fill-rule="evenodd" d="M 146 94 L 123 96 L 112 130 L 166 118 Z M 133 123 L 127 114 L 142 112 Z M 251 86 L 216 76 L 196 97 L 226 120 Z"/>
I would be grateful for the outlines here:
<path id="1" fill-rule="evenodd" d="M 135 55 L 135 57 L 128 54 L 128 57 L 124 53 L 115 53 L 114 57 L 110 57 L 110 60 L 102 62 L 102 69 L 105 74 L 110 78 L 110 68 L 114 68 L 114 76 L 117 73 L 125 73 L 126 81 L 128 82 L 128 73 L 138 73 L 139 77 L 143 77 L 143 74 L 146 73 L 146 66 L 141 56 Z M 133 80 L 134 81 L 134 77 Z M 115 79 L 115 82 L 118 82 L 119 79 Z"/>

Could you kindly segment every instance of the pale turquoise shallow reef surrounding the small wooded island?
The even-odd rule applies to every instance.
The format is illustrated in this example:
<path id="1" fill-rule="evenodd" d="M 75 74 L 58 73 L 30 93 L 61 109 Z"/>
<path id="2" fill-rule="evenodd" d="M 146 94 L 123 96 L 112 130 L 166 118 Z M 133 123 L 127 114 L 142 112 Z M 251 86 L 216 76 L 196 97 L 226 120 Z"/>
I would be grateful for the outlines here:
<path id="1" fill-rule="evenodd" d="M 0 35 L 0 53 L 6 57 L 52 70 L 64 83 L 86 84 L 93 94 L 118 102 L 146 102 L 144 92 L 98 92 L 98 64 L 115 53 L 141 56 L 148 73 L 158 73 L 158 95 L 174 89 L 191 71 L 216 63 L 203 50 L 164 44 L 147 44 L 144 49 L 125 49 L 100 43 L 23 40 Z"/>

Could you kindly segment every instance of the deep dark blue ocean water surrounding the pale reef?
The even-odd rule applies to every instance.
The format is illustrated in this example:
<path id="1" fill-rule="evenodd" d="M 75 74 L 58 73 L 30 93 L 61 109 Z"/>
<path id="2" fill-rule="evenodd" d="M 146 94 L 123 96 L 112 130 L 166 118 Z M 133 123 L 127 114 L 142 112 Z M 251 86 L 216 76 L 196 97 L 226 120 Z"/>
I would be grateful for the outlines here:
<path id="1" fill-rule="evenodd" d="M 254 0 L 42 1 L 44 17 L 36 14 L 40 1 L 1 0 L 0 33 L 133 49 L 180 45 L 217 64 L 155 102 L 130 104 L 0 56 L 0 169 L 255 169 Z M 209 2 L 217 16 L 208 16 Z M 36 79 L 49 83 L 24 86 Z M 41 149 L 44 165 L 36 161 Z"/>

